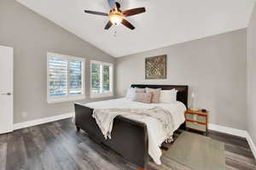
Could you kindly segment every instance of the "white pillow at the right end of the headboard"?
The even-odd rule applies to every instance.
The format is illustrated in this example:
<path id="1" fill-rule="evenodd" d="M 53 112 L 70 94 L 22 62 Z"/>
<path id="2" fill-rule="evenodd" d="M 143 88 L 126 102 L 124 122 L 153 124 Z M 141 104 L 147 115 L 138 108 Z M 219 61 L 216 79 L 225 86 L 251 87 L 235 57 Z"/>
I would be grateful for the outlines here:
<path id="1" fill-rule="evenodd" d="M 161 90 L 160 91 L 160 103 L 171 104 L 177 101 L 177 90 Z"/>

